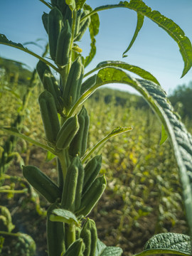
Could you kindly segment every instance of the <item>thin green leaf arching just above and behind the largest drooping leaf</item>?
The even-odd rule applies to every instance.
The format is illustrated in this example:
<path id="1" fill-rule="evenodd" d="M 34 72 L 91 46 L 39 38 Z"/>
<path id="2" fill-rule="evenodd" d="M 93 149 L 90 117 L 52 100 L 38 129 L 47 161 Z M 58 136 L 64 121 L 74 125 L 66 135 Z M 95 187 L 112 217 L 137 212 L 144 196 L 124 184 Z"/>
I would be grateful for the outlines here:
<path id="1" fill-rule="evenodd" d="M 144 78 L 146 80 L 150 80 L 152 82 L 155 82 L 157 85 L 159 85 L 158 80 L 156 80 L 156 78 L 154 77 L 154 75 L 151 75 L 151 73 L 149 73 L 148 71 L 139 68 L 135 65 L 130 65 L 128 63 L 125 63 L 123 61 L 119 61 L 119 60 L 106 60 L 106 61 L 102 61 L 101 63 L 99 63 L 97 65 L 97 67 L 93 70 L 91 70 L 89 73 L 85 74 L 84 77 L 86 77 L 87 75 L 90 75 L 92 72 L 95 72 L 101 68 L 106 68 L 106 67 L 117 67 L 117 68 L 122 68 L 124 70 L 127 70 L 129 72 L 132 72 L 136 75 L 139 75 L 141 78 Z"/>

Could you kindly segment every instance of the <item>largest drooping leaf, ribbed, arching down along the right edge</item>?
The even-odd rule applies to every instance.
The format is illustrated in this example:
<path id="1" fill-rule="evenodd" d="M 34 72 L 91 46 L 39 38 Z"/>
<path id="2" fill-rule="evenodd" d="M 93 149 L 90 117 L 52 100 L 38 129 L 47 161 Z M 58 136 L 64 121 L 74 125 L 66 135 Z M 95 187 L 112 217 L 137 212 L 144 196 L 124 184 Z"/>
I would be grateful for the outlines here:
<path id="1" fill-rule="evenodd" d="M 146 102 L 149 103 L 156 115 L 164 125 L 170 142 L 174 149 L 174 155 L 178 165 L 181 186 L 183 190 L 183 201 L 186 207 L 188 225 L 192 234 L 192 136 L 189 134 L 184 124 L 178 120 L 171 103 L 166 97 L 166 92 L 161 86 L 149 80 L 134 79 L 119 68 L 103 68 L 97 73 L 97 82 L 89 90 L 84 92 L 78 102 L 77 107 L 87 97 L 89 97 L 98 87 L 109 83 L 123 83 L 131 85 L 142 94 Z M 71 110 L 74 112 L 74 109 Z M 71 113 L 70 113 L 71 114 Z"/>

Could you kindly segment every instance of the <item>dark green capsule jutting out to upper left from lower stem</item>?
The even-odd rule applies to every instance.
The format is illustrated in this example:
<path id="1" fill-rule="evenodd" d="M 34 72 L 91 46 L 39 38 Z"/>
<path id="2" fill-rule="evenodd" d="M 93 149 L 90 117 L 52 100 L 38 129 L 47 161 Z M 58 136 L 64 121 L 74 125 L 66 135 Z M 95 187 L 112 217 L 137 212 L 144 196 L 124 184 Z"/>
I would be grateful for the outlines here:
<path id="1" fill-rule="evenodd" d="M 36 166 L 23 166 L 23 176 L 49 203 L 60 198 L 61 191 L 58 186 Z"/>

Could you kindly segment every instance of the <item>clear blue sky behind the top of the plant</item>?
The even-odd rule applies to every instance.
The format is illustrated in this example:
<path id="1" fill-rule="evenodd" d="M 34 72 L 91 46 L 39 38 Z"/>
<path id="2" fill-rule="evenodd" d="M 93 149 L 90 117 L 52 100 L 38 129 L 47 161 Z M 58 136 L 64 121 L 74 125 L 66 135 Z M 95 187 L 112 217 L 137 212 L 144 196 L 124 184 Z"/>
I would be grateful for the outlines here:
<path id="1" fill-rule="evenodd" d="M 105 4 L 117 4 L 116 0 L 87 0 L 92 8 Z M 191 0 L 144 0 L 153 10 L 158 10 L 164 16 L 173 19 L 192 41 L 192 1 Z M 0 2 L 0 33 L 16 43 L 36 41 L 41 38 L 41 44 L 47 40 L 46 31 L 41 23 L 43 11 L 48 8 L 38 0 L 6 0 Z M 128 9 L 112 9 L 100 11 L 100 33 L 97 36 L 97 55 L 87 67 L 87 71 L 95 68 L 103 60 L 122 60 L 132 65 L 138 65 L 152 73 L 164 87 L 166 92 L 176 85 L 192 80 L 192 70 L 180 79 L 183 70 L 183 60 L 176 42 L 155 23 L 145 18 L 144 26 L 137 41 L 128 52 L 127 58 L 122 53 L 129 45 L 137 23 L 137 14 Z M 83 55 L 90 50 L 90 40 L 86 33 L 80 43 Z M 28 46 L 34 52 L 41 54 L 36 46 Z M 21 50 L 0 45 L 0 56 L 11 58 L 28 64 L 34 68 L 37 59 L 23 53 Z M 134 76 L 134 75 L 133 75 Z M 119 87 L 112 86 L 112 87 Z M 130 87 L 119 87 L 129 90 Z"/>

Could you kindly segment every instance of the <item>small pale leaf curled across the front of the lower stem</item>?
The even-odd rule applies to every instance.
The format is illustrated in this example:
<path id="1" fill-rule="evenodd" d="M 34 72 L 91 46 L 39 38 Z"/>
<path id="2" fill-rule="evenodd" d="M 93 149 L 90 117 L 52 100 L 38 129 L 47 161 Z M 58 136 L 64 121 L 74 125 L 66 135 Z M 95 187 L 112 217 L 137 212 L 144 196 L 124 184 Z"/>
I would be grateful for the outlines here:
<path id="1" fill-rule="evenodd" d="M 68 224 L 75 224 L 77 226 L 79 225 L 78 219 L 69 210 L 54 209 L 54 210 L 52 210 L 49 219 L 51 221 L 58 221 L 58 222 L 63 222 L 63 223 L 68 223 Z"/>

